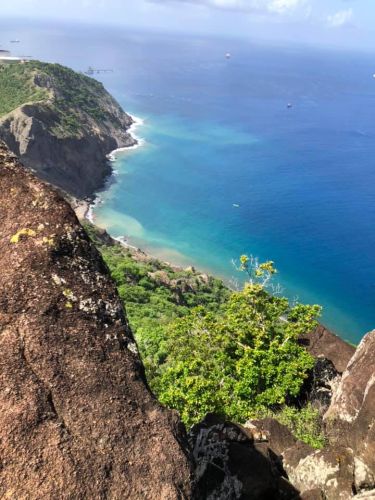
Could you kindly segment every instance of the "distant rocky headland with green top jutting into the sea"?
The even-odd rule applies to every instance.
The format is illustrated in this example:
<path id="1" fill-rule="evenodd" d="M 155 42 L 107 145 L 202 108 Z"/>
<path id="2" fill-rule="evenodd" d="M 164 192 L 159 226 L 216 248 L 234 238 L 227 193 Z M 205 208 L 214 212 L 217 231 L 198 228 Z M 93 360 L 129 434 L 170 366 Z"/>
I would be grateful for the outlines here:
<path id="1" fill-rule="evenodd" d="M 0 65 L 0 139 L 38 175 L 82 198 L 100 189 L 106 155 L 136 141 L 133 123 L 96 80 L 58 64 Z"/>

